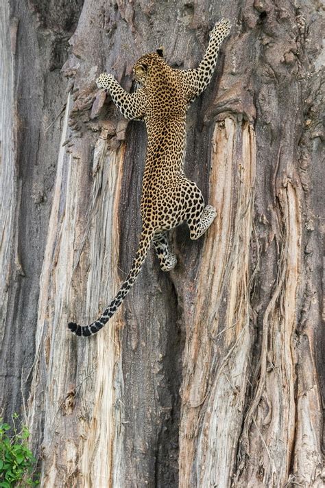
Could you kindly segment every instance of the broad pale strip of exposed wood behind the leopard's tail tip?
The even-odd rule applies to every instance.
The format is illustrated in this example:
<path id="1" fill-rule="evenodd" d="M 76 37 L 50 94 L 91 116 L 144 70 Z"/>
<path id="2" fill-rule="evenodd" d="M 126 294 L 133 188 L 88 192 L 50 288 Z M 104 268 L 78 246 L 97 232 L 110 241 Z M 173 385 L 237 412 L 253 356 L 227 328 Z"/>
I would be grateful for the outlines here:
<path id="1" fill-rule="evenodd" d="M 91 310 L 93 297 L 97 297 L 97 303 L 105 303 L 107 297 L 115 292 L 119 281 L 116 202 L 119 201 L 121 189 L 121 172 L 118 168 L 123 164 L 124 146 L 116 153 L 110 153 L 108 141 L 104 138 L 98 139 L 93 156 L 96 172 L 93 173 L 95 176 L 89 202 L 90 211 L 86 215 L 80 213 L 75 202 L 80 199 L 83 186 L 83 154 L 77 153 L 75 148 L 74 154 L 80 154 L 80 158 L 73 160 L 63 148 L 64 140 L 69 135 L 67 122 L 70 110 L 71 95 L 68 96 L 64 115 L 62 150 L 58 156 L 56 189 L 49 221 L 50 232 L 40 277 L 38 324 L 42 327 L 38 328 L 36 336 L 37 362 L 30 398 L 39 401 L 43 397 L 47 412 L 43 428 L 43 484 L 56 487 L 58 479 L 62 479 L 62 483 L 67 486 L 73 485 L 77 470 L 83 480 L 82 486 L 91 486 L 92 480 L 96 480 L 95 485 L 100 483 L 108 486 L 112 480 L 115 417 L 120 419 L 115 408 L 115 402 L 119 399 L 119 395 L 115 397 L 115 384 L 123 385 L 123 378 L 114 374 L 115 362 L 119 358 L 119 337 L 115 329 L 118 318 L 115 320 L 115 327 L 113 325 L 108 328 L 105 339 L 97 342 L 96 351 L 90 351 L 94 344 L 93 347 L 85 348 L 82 364 L 78 368 L 78 379 L 72 382 L 68 382 L 67 373 L 72 371 L 75 376 L 76 363 L 73 360 L 71 341 L 67 340 L 69 333 L 62 327 L 62 321 L 64 317 L 67 320 L 67 308 L 64 305 L 67 297 L 69 303 L 75 303 L 75 299 L 83 295 L 83 276 L 88 275 L 88 281 L 84 283 L 86 299 L 83 306 L 86 315 L 94 313 Z M 75 247 L 80 250 L 77 259 Z M 87 253 L 84 252 L 85 248 Z M 93 256 L 91 262 L 86 259 L 88 254 Z M 60 312 L 51 312 L 55 310 Z M 60 363 L 66 364 L 60 371 L 56 367 L 56 361 L 47 357 L 47 351 L 54 349 L 60 354 Z M 42 364 L 40 358 L 44 354 L 45 364 Z M 117 371 L 119 369 L 121 368 L 117 367 Z M 90 406 L 91 417 L 88 413 Z M 74 415 L 78 410 L 80 423 L 76 425 Z M 61 419 L 60 422 L 58 418 Z M 103 424 L 98 419 L 106 421 Z M 29 409 L 29 423 L 32 428 L 36 428 L 38 421 L 39 405 L 38 402 L 32 402 Z M 55 437 L 53 430 L 56 432 Z M 68 432 L 68 437 L 65 437 Z M 105 452 L 105 456 L 101 456 L 101 452 Z"/>

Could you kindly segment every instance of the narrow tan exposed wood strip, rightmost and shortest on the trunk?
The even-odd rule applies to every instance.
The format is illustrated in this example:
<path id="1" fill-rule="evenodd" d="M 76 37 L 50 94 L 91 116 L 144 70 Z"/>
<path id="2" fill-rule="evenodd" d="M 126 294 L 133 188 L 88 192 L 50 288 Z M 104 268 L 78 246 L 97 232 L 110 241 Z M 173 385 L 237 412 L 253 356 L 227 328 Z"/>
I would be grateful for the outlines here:
<path id="1" fill-rule="evenodd" d="M 281 485 L 287 479 L 295 430 L 293 331 L 297 323 L 301 220 L 299 199 L 291 182 L 279 196 L 283 218 L 283 242 L 274 294 L 267 305 L 263 320 L 261 369 L 250 408 L 245 417 L 240 440 L 241 458 L 250 452 L 250 441 L 267 426 L 267 437 L 259 436 L 255 442 L 263 456 L 258 465 L 245 467 L 248 480 L 258 480 L 263 472 L 263 483 Z M 273 354 L 272 352 L 273 351 Z M 257 410 L 263 397 L 269 415 Z M 270 415 L 272 413 L 272 415 Z M 259 414 L 259 415 L 258 415 Z M 278 427 L 282 426 L 281 429 Z M 284 428 L 286 426 L 286 428 Z M 252 428 L 252 432 L 250 431 Z M 249 439 L 249 437 L 251 439 Z M 280 455 L 279 455 L 280 454 Z M 241 470 L 241 466 L 239 467 Z M 252 481 L 251 481 L 252 483 Z"/>

